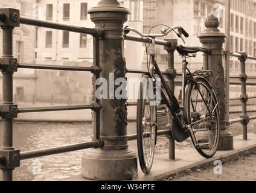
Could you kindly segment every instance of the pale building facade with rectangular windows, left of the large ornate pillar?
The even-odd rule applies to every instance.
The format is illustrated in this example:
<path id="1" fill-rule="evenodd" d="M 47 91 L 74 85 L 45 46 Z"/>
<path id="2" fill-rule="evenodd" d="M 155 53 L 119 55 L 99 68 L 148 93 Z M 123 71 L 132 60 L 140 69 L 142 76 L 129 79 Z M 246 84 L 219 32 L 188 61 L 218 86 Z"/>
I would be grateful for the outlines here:
<path id="1" fill-rule="evenodd" d="M 62 24 L 94 28 L 87 11 L 98 1 L 39 0 L 38 18 Z M 62 65 L 65 61 L 92 62 L 92 36 L 68 31 L 37 28 L 36 61 Z"/>

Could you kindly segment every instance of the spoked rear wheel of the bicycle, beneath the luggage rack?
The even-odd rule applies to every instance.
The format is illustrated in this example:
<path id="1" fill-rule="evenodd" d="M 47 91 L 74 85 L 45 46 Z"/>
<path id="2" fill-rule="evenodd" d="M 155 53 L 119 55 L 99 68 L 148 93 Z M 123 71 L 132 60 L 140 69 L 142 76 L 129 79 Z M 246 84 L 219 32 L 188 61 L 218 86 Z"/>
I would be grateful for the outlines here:
<path id="1" fill-rule="evenodd" d="M 203 157 L 211 158 L 219 146 L 219 106 L 210 83 L 203 77 L 195 79 L 198 86 L 190 82 L 186 87 L 185 122 L 188 125 L 196 123 L 191 125 L 196 138 L 196 143 L 192 140 L 193 144 Z"/>

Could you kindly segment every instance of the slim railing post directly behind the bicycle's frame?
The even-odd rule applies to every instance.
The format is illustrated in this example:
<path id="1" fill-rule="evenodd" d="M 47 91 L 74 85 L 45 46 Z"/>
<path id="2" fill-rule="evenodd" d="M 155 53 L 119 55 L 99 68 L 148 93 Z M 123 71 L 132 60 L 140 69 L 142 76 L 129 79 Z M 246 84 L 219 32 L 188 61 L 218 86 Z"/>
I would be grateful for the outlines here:
<path id="1" fill-rule="evenodd" d="M 174 78 L 177 76 L 177 72 L 174 69 L 174 51 L 176 46 L 178 45 L 177 39 L 164 39 L 167 42 L 170 42 L 170 46 L 165 46 L 164 49 L 167 51 L 167 79 L 168 79 L 168 86 L 170 87 L 171 91 L 174 93 Z M 167 128 L 171 127 L 171 120 L 168 118 Z M 173 138 L 172 134 L 168 136 L 169 142 L 169 159 L 175 160 L 175 139 Z"/>

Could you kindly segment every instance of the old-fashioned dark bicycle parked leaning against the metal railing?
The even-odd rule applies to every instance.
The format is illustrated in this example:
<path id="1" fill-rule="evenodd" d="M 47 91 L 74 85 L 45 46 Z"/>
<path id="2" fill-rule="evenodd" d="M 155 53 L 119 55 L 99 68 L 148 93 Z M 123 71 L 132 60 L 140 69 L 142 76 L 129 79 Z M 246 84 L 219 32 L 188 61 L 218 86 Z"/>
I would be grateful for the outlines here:
<path id="1" fill-rule="evenodd" d="M 157 25 L 158 26 L 158 25 Z M 167 27 L 167 25 L 165 25 Z M 175 30 L 178 30 L 176 32 Z M 182 94 L 181 105 L 168 87 L 155 59 L 155 38 L 167 36 L 174 31 L 185 44 L 182 34 L 188 37 L 189 34 L 182 27 L 168 27 L 161 30 L 161 34 L 142 34 L 134 28 L 125 27 L 125 34 L 133 31 L 150 40 L 146 46 L 147 55 L 150 55 L 148 65 L 149 72 L 145 74 L 139 86 L 139 97 L 137 106 L 137 146 L 139 164 L 144 174 L 149 174 L 153 165 L 155 145 L 158 132 L 157 106 L 152 105 L 152 98 L 149 97 L 150 90 L 153 93 L 161 93 L 162 103 L 167 106 L 170 112 L 171 133 L 178 142 L 191 138 L 196 150 L 205 158 L 211 158 L 216 154 L 220 138 L 220 111 L 219 103 L 210 79 L 213 77 L 211 71 L 196 71 L 191 73 L 188 69 L 187 57 L 195 57 L 197 52 L 210 54 L 206 48 L 177 45 L 176 51 L 182 57 Z M 161 80 L 160 89 L 156 90 L 156 76 Z M 146 81 L 145 81 L 146 80 Z M 153 81 L 150 84 L 150 80 Z"/>

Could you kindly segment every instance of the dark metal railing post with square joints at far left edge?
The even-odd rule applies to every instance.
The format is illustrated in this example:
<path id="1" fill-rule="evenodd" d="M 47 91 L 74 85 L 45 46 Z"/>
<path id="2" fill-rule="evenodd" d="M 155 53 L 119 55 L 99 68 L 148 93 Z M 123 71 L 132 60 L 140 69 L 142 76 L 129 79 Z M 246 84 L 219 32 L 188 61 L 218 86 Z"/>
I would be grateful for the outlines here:
<path id="1" fill-rule="evenodd" d="M 19 10 L 0 9 L 0 26 L 2 28 L 2 147 L 0 156 L 5 162 L 0 163 L 4 181 L 13 180 L 13 169 L 19 167 L 19 150 L 13 147 L 13 119 L 17 118 L 18 107 L 13 103 L 13 72 L 18 69 L 17 59 L 13 58 L 13 29 L 19 27 Z"/>

